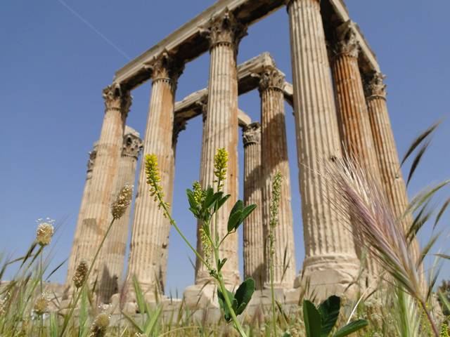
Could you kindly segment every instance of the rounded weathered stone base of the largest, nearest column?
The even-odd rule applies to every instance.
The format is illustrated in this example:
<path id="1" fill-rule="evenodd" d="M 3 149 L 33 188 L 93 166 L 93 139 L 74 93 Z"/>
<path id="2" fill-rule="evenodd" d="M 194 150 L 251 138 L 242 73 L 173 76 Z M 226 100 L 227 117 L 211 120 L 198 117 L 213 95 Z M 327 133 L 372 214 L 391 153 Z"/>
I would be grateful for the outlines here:
<path id="1" fill-rule="evenodd" d="M 332 295 L 353 298 L 359 291 L 359 274 L 359 260 L 353 256 L 314 256 L 304 260 L 294 286 L 305 289 L 307 298 L 313 295 L 318 300 Z"/>

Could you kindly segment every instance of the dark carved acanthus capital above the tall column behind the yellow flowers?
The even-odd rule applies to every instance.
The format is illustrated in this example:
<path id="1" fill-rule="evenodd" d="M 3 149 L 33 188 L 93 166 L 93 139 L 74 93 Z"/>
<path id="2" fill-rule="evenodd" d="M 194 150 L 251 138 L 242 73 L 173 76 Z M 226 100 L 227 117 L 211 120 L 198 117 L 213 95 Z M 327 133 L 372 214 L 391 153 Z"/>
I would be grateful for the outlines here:
<path id="1" fill-rule="evenodd" d="M 209 39 L 210 48 L 218 44 L 228 44 L 237 52 L 240 39 L 247 35 L 247 26 L 238 22 L 233 13 L 226 8 L 222 13 L 212 17 L 200 32 Z"/>

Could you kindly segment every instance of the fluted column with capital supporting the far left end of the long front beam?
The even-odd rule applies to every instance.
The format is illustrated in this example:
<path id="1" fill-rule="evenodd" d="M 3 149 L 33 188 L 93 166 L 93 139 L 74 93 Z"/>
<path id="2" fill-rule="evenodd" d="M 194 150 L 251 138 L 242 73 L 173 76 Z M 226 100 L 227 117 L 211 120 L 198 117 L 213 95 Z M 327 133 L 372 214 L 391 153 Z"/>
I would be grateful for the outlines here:
<path id="1" fill-rule="evenodd" d="M 115 192 L 117 171 L 124 133 L 124 121 L 131 105 L 129 93 L 121 93 L 118 86 L 103 90 L 105 117 L 97 145 L 96 164 L 92 171 L 91 192 L 82 220 L 83 239 L 79 239 L 75 266 L 81 260 L 89 264 L 96 253 L 111 220 L 111 197 Z M 98 277 L 101 263 L 97 260 L 91 280 Z"/>

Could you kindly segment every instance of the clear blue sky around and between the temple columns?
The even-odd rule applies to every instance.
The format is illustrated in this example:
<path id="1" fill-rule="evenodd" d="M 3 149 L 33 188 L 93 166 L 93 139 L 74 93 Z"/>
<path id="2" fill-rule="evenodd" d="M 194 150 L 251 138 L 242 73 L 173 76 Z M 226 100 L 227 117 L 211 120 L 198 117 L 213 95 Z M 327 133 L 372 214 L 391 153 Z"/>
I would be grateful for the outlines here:
<path id="1" fill-rule="evenodd" d="M 0 5 L 0 250 L 23 253 L 34 239 L 37 218 L 62 222 L 56 234 L 53 265 L 66 258 L 86 176 L 87 153 L 98 139 L 103 119 L 101 90 L 115 70 L 156 44 L 214 1 L 6 0 Z M 432 122 L 449 117 L 450 21 L 448 0 L 346 1 L 387 74 L 388 105 L 401 154 Z M 85 22 L 84 22 L 84 21 Z M 111 46 L 94 29 L 112 42 Z M 120 53 L 117 48 L 122 51 Z M 288 15 L 284 8 L 250 27 L 238 62 L 269 51 L 291 80 Z M 122 55 L 125 54 L 125 55 Z M 209 55 L 186 65 L 176 100 L 207 86 Z M 150 82 L 132 93 L 127 124 L 143 134 Z M 242 110 L 259 120 L 259 95 L 239 98 Z M 286 107 L 297 270 L 304 249 L 292 109 Z M 188 123 L 176 157 L 174 217 L 195 242 L 195 221 L 186 211 L 184 189 L 200 168 L 201 119 Z M 450 121 L 444 121 L 411 183 L 420 187 L 450 176 Z M 240 143 L 240 170 L 243 169 Z M 410 163 L 409 163 L 410 164 Z M 408 166 L 407 166 L 408 167 Z M 240 182 L 242 196 L 242 181 Z M 442 194 L 448 197 L 449 190 Z M 450 213 L 450 212 L 449 212 Z M 439 246 L 448 246 L 450 216 L 444 217 Z M 422 241 L 430 236 L 424 232 Z M 193 283 L 192 254 L 175 232 L 170 237 L 167 291 Z M 240 254 L 242 249 L 240 250 Z M 241 266 L 242 267 L 242 266 Z M 8 274 L 11 275 L 11 274 Z M 445 267 L 442 277 L 450 277 Z M 65 267 L 53 281 L 63 282 Z"/>

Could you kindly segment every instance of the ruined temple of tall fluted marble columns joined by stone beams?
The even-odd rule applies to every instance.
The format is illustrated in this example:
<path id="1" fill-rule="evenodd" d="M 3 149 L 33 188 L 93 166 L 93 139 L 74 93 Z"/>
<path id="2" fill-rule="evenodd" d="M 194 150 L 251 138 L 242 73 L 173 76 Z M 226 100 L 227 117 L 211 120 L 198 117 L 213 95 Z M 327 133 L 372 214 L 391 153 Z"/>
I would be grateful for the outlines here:
<path id="1" fill-rule="evenodd" d="M 293 84 L 285 81 L 269 53 L 236 64 L 240 41 L 257 20 L 286 8 L 289 22 Z M 207 87 L 175 102 L 176 86 L 184 67 L 199 55 L 210 53 Z M 151 80 L 150 105 L 143 140 L 126 128 L 131 91 Z M 238 95 L 258 90 L 260 119 L 251 121 L 238 109 Z M 103 302 L 109 302 L 126 280 L 136 277 L 149 300 L 165 287 L 169 220 L 148 194 L 145 164 L 136 169 L 139 152 L 158 156 L 166 201 L 172 202 L 176 140 L 186 121 L 203 116 L 200 183 L 214 183 L 214 154 L 220 147 L 229 153 L 224 192 L 231 194 L 219 213 L 217 230 L 226 233 L 226 221 L 238 199 L 238 135 L 244 146 L 245 204 L 259 207 L 243 227 L 244 275 L 238 268 L 238 234 L 221 247 L 228 260 L 222 270 L 231 288 L 253 277 L 258 289 L 269 285 L 266 238 L 269 231 L 271 179 L 283 175 L 278 226 L 274 236 L 274 284 L 281 291 L 300 289 L 308 279 L 318 296 L 342 294 L 354 282 L 361 266 L 358 246 L 348 232 L 352 216 L 336 212 L 335 191 L 323 181 L 325 168 L 346 152 L 360 161 L 385 189 L 397 214 L 408 202 L 399 176 L 399 159 L 387 113 L 383 74 L 359 27 L 350 20 L 341 0 L 221 0 L 170 34 L 159 44 L 116 72 L 104 90 L 105 117 L 101 136 L 91 152 L 82 206 L 69 260 L 67 289 L 80 260 L 94 255 L 110 220 L 109 206 L 124 183 L 134 183 L 136 201 L 131 216 L 131 243 L 126 275 L 122 275 L 130 215 L 120 230 L 108 237 L 94 275 Z M 297 143 L 288 144 L 285 102 L 294 110 Z M 288 146 L 297 147 L 297 168 L 290 168 Z M 307 169 L 306 169 L 307 168 Z M 290 170 L 299 171 L 301 205 L 291 203 Z M 187 182 L 186 182 L 187 184 Z M 326 195 L 326 197 L 325 197 Z M 293 208 L 302 208 L 302 224 L 294 223 Z M 294 236 L 302 225 L 304 242 Z M 119 227 L 119 226 L 117 226 Z M 304 244 L 302 272 L 296 270 L 295 244 Z M 195 245 L 195 244 L 194 244 Z M 198 250 L 201 252 L 200 234 Z M 367 257 L 368 273 L 377 266 Z M 200 260 L 195 263 L 195 283 L 186 289 L 188 305 L 214 294 L 205 286 L 211 277 Z M 155 289 L 157 291 L 155 292 Z M 129 289 L 131 293 L 131 288 Z M 114 297 L 114 296 L 113 296 Z M 285 298 L 285 300 L 288 300 Z"/>

